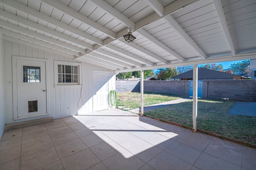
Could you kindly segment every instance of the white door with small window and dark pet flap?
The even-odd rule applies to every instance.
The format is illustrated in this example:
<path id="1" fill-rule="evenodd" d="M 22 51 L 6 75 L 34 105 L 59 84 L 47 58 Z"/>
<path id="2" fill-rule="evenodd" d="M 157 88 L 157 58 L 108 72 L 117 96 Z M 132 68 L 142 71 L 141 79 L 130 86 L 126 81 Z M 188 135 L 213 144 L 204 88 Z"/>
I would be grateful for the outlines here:
<path id="1" fill-rule="evenodd" d="M 46 62 L 16 59 L 18 118 L 47 113 Z"/>

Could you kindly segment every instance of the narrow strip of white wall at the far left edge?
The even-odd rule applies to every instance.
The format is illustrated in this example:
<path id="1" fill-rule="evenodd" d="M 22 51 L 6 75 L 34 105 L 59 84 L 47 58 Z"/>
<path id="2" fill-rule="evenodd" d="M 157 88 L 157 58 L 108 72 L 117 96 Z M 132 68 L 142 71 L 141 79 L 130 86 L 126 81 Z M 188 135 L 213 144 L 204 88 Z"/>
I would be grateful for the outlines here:
<path id="1" fill-rule="evenodd" d="M 4 58 L 3 58 L 3 41 L 0 38 L 0 138 L 4 132 L 5 112 L 4 112 Z"/>

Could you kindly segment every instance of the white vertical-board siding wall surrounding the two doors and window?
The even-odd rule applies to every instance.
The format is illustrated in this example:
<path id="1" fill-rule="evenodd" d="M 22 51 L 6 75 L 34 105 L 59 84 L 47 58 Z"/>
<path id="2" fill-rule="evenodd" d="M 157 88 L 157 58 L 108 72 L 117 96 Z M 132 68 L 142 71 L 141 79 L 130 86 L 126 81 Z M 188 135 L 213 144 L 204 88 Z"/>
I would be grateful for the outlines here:
<path id="1" fill-rule="evenodd" d="M 5 57 L 5 87 L 6 87 L 6 121 L 13 123 L 12 103 L 12 55 L 49 59 L 50 66 L 50 116 L 54 119 L 72 115 L 84 115 L 92 112 L 92 71 L 110 71 L 109 90 L 115 89 L 115 74 L 113 70 L 82 62 L 82 92 L 80 87 L 54 87 L 54 60 L 77 62 L 73 59 L 27 47 L 18 43 L 4 41 Z M 82 95 L 82 98 L 80 99 Z M 82 99 L 84 103 L 82 103 Z M 80 101 L 79 101 L 80 100 Z M 79 107 L 78 108 L 78 101 Z"/>

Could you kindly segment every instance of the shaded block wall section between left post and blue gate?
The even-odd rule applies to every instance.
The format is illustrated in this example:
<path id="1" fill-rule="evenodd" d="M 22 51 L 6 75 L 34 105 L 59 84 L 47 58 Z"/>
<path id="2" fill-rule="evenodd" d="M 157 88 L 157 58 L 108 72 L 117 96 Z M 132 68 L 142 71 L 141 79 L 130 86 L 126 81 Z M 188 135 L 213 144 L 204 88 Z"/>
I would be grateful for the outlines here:
<path id="1" fill-rule="evenodd" d="M 154 93 L 169 93 L 188 96 L 189 80 L 184 81 L 144 81 L 144 91 Z"/>

